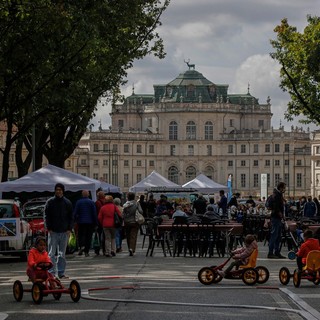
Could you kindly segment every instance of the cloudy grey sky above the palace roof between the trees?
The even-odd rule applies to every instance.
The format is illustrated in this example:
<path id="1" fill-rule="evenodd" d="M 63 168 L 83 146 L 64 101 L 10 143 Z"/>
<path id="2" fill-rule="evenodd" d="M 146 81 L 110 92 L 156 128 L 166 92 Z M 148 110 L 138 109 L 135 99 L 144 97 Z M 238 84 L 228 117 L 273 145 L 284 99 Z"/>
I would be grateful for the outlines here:
<path id="1" fill-rule="evenodd" d="M 136 93 L 153 93 L 154 84 L 168 83 L 187 70 L 184 60 L 190 59 L 208 80 L 229 84 L 230 94 L 246 93 L 249 83 L 260 103 L 270 96 L 275 128 L 280 119 L 286 130 L 302 126 L 284 120 L 289 96 L 279 89 L 279 65 L 269 56 L 270 39 L 276 38 L 273 30 L 282 18 L 303 32 L 307 15 L 319 16 L 319 9 L 319 0 L 171 0 L 158 29 L 166 58 L 136 61 L 122 93 L 130 95 L 133 84 Z M 99 105 L 94 130 L 98 121 L 104 129 L 110 125 L 109 112 L 109 106 Z"/>

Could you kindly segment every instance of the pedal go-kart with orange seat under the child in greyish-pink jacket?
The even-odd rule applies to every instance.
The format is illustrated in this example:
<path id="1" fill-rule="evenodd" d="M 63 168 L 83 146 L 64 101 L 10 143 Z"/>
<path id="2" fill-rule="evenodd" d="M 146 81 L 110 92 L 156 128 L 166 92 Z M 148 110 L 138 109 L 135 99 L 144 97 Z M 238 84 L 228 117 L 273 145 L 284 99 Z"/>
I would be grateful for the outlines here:
<path id="1" fill-rule="evenodd" d="M 226 279 L 241 279 L 246 285 L 253 286 L 256 283 L 263 284 L 269 279 L 269 270 L 266 267 L 256 267 L 258 257 L 258 250 L 254 250 L 246 265 L 242 265 L 239 269 L 232 270 Z M 211 266 L 201 268 L 198 272 L 198 280 L 204 284 L 209 285 L 212 283 L 220 282 L 223 277 L 219 275 L 218 270 L 222 270 L 225 265 L 230 261 L 230 256 L 225 262 L 219 266 Z"/>

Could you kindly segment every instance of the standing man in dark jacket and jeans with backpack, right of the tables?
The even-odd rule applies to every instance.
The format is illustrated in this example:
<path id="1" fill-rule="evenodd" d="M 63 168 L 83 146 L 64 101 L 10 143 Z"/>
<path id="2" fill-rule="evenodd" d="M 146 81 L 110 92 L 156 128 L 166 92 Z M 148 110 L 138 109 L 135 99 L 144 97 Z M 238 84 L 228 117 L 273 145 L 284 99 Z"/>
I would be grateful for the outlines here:
<path id="1" fill-rule="evenodd" d="M 269 239 L 268 259 L 284 259 L 281 255 L 282 220 L 284 217 L 284 197 L 286 184 L 279 182 L 277 188 L 273 190 L 269 206 L 271 208 L 271 232 Z"/>

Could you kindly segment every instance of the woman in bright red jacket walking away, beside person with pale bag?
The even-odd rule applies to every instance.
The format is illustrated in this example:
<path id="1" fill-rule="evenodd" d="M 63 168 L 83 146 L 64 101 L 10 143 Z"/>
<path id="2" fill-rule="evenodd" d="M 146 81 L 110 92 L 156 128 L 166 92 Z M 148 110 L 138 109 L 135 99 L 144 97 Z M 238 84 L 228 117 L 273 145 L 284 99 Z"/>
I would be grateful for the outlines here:
<path id="1" fill-rule="evenodd" d="M 104 232 L 106 257 L 114 257 L 116 255 L 116 228 L 114 225 L 115 213 L 122 218 L 120 210 L 113 203 L 113 197 L 106 196 L 106 202 L 101 207 L 98 215 L 98 220 Z"/>

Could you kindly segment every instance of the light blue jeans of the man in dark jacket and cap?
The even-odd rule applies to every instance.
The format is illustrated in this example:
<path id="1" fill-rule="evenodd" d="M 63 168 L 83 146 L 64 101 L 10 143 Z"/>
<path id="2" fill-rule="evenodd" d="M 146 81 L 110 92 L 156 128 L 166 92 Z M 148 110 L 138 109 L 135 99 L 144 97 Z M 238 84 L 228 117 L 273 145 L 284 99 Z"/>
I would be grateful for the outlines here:
<path id="1" fill-rule="evenodd" d="M 66 249 L 69 240 L 69 233 L 67 232 L 49 232 L 48 234 L 48 253 L 53 263 L 50 273 L 58 277 L 64 275 L 66 269 Z"/>

